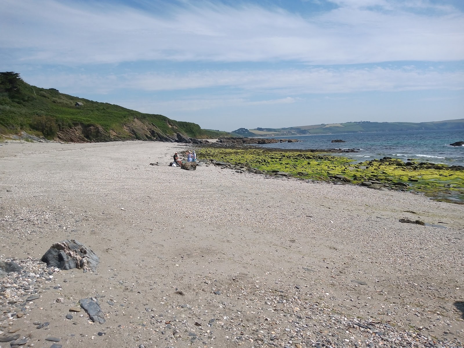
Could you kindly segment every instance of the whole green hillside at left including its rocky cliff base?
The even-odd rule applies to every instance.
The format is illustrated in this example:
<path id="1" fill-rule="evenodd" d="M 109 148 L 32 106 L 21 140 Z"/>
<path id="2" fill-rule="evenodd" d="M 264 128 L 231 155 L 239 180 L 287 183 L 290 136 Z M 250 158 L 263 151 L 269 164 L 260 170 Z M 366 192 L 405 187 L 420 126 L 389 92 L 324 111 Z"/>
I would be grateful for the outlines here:
<path id="1" fill-rule="evenodd" d="M 79 105 L 76 103 L 81 103 Z M 65 141 L 160 140 L 176 133 L 215 138 L 229 133 L 201 129 L 162 115 L 144 114 L 118 105 L 73 97 L 56 89 L 24 82 L 18 73 L 0 73 L 0 134 L 25 130 Z"/>

